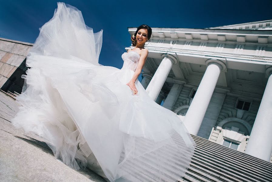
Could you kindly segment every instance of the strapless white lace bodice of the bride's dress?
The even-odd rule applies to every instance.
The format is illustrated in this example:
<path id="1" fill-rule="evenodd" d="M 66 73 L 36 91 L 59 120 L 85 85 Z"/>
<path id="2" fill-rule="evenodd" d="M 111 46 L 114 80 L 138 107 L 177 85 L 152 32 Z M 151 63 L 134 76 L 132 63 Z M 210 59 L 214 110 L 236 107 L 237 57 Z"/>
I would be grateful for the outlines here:
<path id="1" fill-rule="evenodd" d="M 135 72 L 140 59 L 140 55 L 135 51 L 124 52 L 122 54 L 122 59 L 124 61 L 124 64 L 121 69 L 130 69 Z"/>

